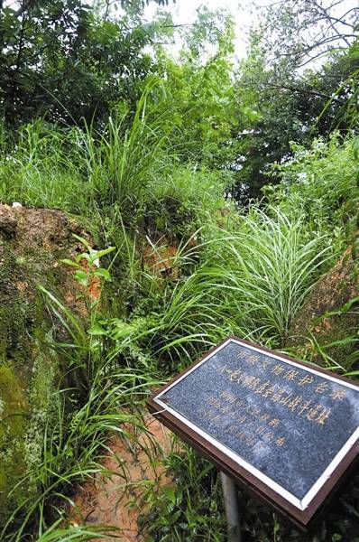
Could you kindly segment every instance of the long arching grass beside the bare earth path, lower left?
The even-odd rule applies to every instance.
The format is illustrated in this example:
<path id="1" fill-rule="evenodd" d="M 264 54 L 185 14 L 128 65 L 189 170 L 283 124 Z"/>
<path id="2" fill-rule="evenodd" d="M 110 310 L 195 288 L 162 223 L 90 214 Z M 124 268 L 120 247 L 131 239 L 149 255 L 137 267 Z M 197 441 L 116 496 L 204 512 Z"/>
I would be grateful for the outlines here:
<path id="1" fill-rule="evenodd" d="M 104 454 L 111 453 L 108 436 L 117 434 L 133 439 L 129 425 L 146 431 L 141 417 L 131 414 L 130 409 L 133 395 L 147 394 L 155 385 L 158 380 L 138 369 L 115 372 L 105 364 L 88 390 L 86 403 L 72 414 L 67 412 L 66 396 L 76 397 L 75 390 L 59 391 L 54 397 L 57 421 L 51 420 L 43 437 L 41 463 L 13 490 L 34 485 L 36 497 L 24 498 L 14 510 L 0 533 L 1 540 L 19 542 L 33 533 L 44 536 L 52 522 L 66 518 L 66 504 L 73 505 L 71 494 L 78 482 L 91 480 L 96 474 L 125 476 L 120 466 L 112 472 L 101 463 Z"/>

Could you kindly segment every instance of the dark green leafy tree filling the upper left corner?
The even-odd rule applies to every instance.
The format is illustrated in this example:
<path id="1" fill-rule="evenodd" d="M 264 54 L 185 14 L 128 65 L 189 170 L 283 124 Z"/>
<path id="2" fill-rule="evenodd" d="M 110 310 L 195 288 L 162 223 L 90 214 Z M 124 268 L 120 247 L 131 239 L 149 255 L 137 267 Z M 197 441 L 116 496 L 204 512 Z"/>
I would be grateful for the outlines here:
<path id="1" fill-rule="evenodd" d="M 163 4 L 163 0 L 157 0 Z M 0 2 L 0 107 L 8 125 L 37 115 L 66 124 L 106 116 L 115 101 L 133 103 L 152 69 L 143 48 L 151 29 L 139 2 L 109 15 L 81 0 Z"/>

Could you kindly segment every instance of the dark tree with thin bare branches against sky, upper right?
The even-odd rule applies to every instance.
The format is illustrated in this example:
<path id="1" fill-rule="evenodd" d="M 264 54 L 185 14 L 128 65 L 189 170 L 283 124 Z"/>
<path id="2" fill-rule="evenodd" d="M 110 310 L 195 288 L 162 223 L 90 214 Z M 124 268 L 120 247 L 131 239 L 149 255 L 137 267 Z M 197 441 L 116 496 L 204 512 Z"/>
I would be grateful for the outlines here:
<path id="1" fill-rule="evenodd" d="M 336 38 L 333 35 L 333 40 L 326 40 L 324 26 L 320 26 L 316 40 L 310 34 L 304 38 L 302 33 L 312 28 L 313 9 L 318 10 L 320 5 L 294 4 L 280 3 L 265 14 L 259 30 L 252 32 L 247 58 L 238 70 L 237 99 L 242 107 L 257 112 L 237 135 L 240 152 L 233 168 L 238 201 L 260 195 L 261 187 L 269 182 L 269 164 L 281 164 L 290 156 L 291 141 L 309 145 L 315 136 L 327 136 L 334 127 L 345 132 L 352 126 L 350 114 L 343 112 L 354 96 L 352 74 L 358 67 L 358 55 L 349 52 L 355 51 L 355 42 L 349 50 L 327 49 L 325 63 L 304 69 L 306 59 L 311 58 L 309 53 L 317 55 L 320 50 L 322 54 L 327 43 L 333 49 L 332 43 L 345 36 L 338 36 L 337 30 Z M 317 23 L 320 20 L 317 18 Z M 325 21 L 332 32 L 333 21 Z M 340 24 L 345 24 L 345 18 Z M 354 100 L 351 103 L 354 107 Z"/>

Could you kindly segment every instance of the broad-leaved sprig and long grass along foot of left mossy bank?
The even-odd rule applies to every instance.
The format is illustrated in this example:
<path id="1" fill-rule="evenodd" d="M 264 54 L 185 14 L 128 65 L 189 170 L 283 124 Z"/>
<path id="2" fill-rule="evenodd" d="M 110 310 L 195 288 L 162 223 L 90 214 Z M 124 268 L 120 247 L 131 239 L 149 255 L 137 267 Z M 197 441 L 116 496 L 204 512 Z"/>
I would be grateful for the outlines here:
<path id="1" fill-rule="evenodd" d="M 93 266 L 93 263 L 113 248 L 93 250 L 84 239 L 81 240 L 87 251 L 79 255 L 78 261 L 85 257 L 89 266 L 87 272 L 77 269 L 78 282 L 87 285 L 93 276 L 109 280 L 108 269 Z M 78 267 L 78 261 L 65 260 L 64 263 Z M 106 537 L 106 532 L 120 532 L 119 529 L 65 527 L 67 511 L 74 504 L 75 484 L 93 480 L 98 474 L 105 478 L 116 474 L 125 479 L 121 465 L 114 472 L 101 462 L 107 453 L 111 453 L 108 436 L 121 435 L 131 441 L 131 426 L 147 432 L 137 404 L 160 382 L 150 368 L 130 369 L 115 364 L 113 350 L 106 350 L 103 341 L 99 341 L 93 332 L 100 298 L 88 305 L 92 324 L 85 332 L 66 306 L 39 287 L 49 310 L 68 332 L 68 341 L 51 346 L 69 351 L 70 379 L 79 383 L 76 387 L 60 388 L 54 395 L 57 416 L 46 426 L 41 462 L 15 482 L 12 490 L 32 485 L 37 488 L 36 497 L 32 495 L 21 500 L 2 527 L 0 537 L 9 542 Z M 114 536 L 112 534 L 111 539 Z"/>

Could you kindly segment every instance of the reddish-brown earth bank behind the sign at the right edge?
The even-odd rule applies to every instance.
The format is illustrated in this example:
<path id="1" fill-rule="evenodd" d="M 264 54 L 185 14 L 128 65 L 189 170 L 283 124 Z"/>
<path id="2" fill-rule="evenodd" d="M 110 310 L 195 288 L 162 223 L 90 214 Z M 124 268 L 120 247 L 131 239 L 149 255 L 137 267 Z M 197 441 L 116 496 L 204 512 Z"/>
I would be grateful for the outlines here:
<path id="1" fill-rule="evenodd" d="M 295 318 L 287 345 L 303 358 L 318 364 L 327 359 L 330 366 L 334 360 L 345 369 L 355 369 L 348 362 L 358 350 L 359 304 L 354 303 L 349 311 L 342 309 L 359 295 L 358 264 L 348 248 L 314 287 Z"/>

